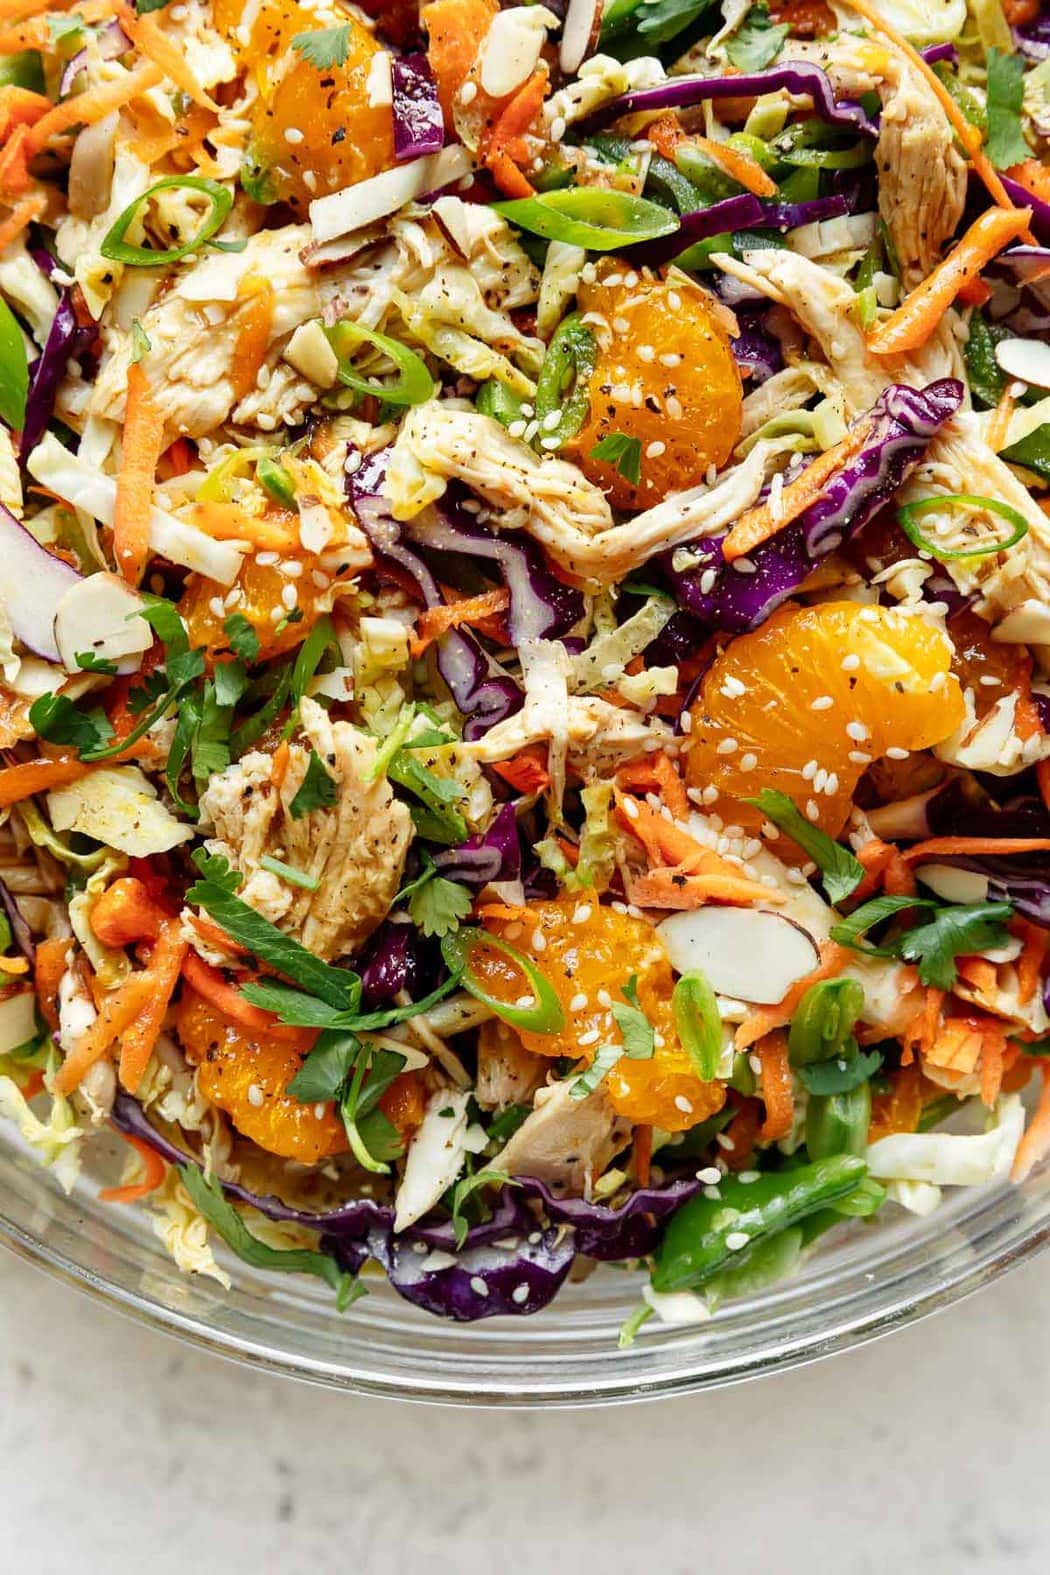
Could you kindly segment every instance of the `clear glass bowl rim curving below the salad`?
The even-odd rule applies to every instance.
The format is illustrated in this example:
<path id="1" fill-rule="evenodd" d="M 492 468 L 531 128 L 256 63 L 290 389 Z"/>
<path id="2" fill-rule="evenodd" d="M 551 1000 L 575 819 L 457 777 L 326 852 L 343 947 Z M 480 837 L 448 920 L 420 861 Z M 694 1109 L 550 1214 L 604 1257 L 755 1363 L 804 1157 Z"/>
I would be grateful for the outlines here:
<path id="1" fill-rule="evenodd" d="M 225 1265 L 230 1292 L 183 1276 L 143 1210 L 98 1202 L 101 1180 L 112 1180 L 104 1158 L 66 1197 L 19 1137 L 0 1129 L 0 1241 L 220 1356 L 360 1394 L 457 1405 L 595 1405 L 775 1372 L 948 1307 L 1050 1235 L 1050 1169 L 1022 1188 L 946 1194 L 927 1219 L 894 1211 L 871 1227 L 844 1227 L 784 1285 L 699 1328 L 650 1323 L 622 1351 L 617 1331 L 641 1290 L 631 1271 L 600 1268 L 565 1285 L 546 1312 L 474 1325 L 438 1321 L 376 1279 L 340 1317 L 331 1292 L 305 1276 L 268 1277 L 239 1260 Z"/>

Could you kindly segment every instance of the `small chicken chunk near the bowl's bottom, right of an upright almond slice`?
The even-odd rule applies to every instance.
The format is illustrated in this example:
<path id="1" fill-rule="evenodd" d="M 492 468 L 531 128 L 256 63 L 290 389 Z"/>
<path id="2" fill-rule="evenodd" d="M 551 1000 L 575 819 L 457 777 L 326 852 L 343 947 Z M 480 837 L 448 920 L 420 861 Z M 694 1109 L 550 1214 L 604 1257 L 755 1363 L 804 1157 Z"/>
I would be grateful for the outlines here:
<path id="1" fill-rule="evenodd" d="M 534 1177 L 556 1191 L 586 1194 L 631 1136 L 631 1123 L 612 1109 L 604 1088 L 573 1099 L 571 1082 L 540 1088 L 526 1117 L 493 1167 Z"/>

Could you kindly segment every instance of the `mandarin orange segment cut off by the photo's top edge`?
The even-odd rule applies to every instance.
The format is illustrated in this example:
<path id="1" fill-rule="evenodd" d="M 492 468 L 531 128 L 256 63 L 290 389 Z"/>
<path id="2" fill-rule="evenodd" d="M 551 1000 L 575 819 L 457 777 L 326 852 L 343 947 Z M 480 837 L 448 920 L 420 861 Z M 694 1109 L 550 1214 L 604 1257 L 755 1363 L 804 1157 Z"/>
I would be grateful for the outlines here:
<path id="1" fill-rule="evenodd" d="M 244 17 L 252 20 L 246 24 Z M 298 0 L 258 6 L 219 0 L 227 32 L 258 90 L 242 183 L 260 202 L 305 213 L 315 197 L 368 180 L 394 164 L 394 112 L 370 85 L 381 46 L 351 11 L 338 11 L 346 58 L 316 66 L 291 47 L 302 33 L 332 25 L 332 14 Z"/>

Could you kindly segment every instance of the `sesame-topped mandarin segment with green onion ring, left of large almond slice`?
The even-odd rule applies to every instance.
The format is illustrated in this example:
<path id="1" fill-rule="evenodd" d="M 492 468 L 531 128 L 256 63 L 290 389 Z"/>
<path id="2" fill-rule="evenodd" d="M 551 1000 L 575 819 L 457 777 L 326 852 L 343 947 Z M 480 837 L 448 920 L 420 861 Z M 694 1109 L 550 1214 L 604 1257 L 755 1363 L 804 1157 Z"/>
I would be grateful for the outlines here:
<path id="1" fill-rule="evenodd" d="M 721 1109 L 719 1082 L 701 1082 L 678 1041 L 671 1010 L 674 973 L 652 925 L 598 902 L 535 902 L 521 918 L 488 928 L 531 958 L 554 986 L 565 1011 L 559 1033 L 521 1032 L 537 1055 L 590 1063 L 603 1044 L 622 1041 L 612 1003 L 627 1005 L 623 986 L 638 980 L 638 1000 L 655 1030 L 649 1060 L 620 1057 L 608 1074 L 612 1106 L 630 1121 L 680 1132 Z M 501 953 L 477 951 L 474 969 L 499 1000 L 523 992 L 521 973 Z"/>

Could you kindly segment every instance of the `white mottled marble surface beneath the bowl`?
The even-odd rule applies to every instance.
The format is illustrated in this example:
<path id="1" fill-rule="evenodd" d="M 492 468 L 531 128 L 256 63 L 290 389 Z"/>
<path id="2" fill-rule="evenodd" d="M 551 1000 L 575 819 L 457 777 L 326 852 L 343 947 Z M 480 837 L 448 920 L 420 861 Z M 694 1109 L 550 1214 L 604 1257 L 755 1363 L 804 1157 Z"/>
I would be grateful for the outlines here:
<path id="1" fill-rule="evenodd" d="M 614 1411 L 357 1400 L 0 1255 L 17 1575 L 1044 1575 L 1050 1255 L 863 1351 Z"/>

